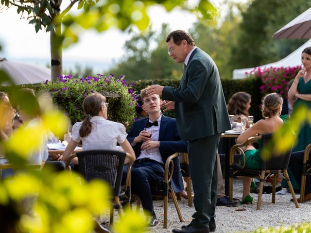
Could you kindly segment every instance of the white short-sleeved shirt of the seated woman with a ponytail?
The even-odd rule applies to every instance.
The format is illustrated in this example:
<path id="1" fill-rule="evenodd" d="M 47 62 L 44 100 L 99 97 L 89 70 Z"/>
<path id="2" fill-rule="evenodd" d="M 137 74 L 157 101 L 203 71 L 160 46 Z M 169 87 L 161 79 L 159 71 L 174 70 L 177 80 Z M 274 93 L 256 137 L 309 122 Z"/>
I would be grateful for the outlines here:
<path id="1" fill-rule="evenodd" d="M 127 133 L 121 123 L 106 120 L 102 116 L 92 116 L 92 131 L 86 137 L 80 137 L 79 130 L 82 125 L 77 122 L 72 127 L 72 140 L 82 140 L 83 150 L 116 150 L 117 143 L 123 143 Z"/>

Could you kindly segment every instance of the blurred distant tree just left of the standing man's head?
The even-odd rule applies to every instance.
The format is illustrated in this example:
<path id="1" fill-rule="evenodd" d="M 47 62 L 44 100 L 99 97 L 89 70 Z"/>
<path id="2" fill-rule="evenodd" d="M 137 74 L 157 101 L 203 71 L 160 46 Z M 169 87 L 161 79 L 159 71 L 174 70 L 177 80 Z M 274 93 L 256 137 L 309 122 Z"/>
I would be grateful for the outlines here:
<path id="1" fill-rule="evenodd" d="M 129 80 L 180 78 L 182 66 L 168 55 L 165 38 L 167 25 L 162 25 L 159 34 L 151 31 L 130 32 L 132 37 L 125 43 L 126 56 L 109 72 L 125 75 Z M 152 45 L 155 44 L 155 49 Z"/>

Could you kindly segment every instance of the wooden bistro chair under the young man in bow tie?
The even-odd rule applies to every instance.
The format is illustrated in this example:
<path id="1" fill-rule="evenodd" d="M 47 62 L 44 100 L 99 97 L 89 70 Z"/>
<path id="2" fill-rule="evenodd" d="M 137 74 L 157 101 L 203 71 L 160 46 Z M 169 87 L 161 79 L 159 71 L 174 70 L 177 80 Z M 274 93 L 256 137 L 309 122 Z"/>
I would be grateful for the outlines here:
<path id="1" fill-rule="evenodd" d="M 171 179 L 173 176 L 173 159 L 178 156 L 178 153 L 174 153 L 173 155 L 169 156 L 166 160 L 165 163 L 165 169 L 164 169 L 164 181 L 158 181 L 158 183 L 155 183 L 151 189 L 152 189 L 152 194 L 155 196 L 163 196 L 164 198 L 164 220 L 163 220 L 163 227 L 166 229 L 167 228 L 167 215 L 168 215 L 168 201 L 169 201 L 169 193 L 172 195 L 172 199 L 175 205 L 175 209 L 177 211 L 177 215 L 179 217 L 179 221 L 183 222 L 183 217 L 181 215 L 179 205 L 177 202 L 176 195 L 173 190 L 173 186 L 171 184 Z M 138 198 L 137 202 L 137 208 L 136 212 L 139 212 L 140 208 L 140 199 Z"/>

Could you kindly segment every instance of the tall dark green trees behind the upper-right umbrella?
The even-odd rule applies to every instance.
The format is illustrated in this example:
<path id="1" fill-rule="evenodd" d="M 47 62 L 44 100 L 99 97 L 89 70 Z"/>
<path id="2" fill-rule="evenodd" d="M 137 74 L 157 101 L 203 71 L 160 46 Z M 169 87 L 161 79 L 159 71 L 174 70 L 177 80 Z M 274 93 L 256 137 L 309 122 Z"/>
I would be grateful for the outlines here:
<path id="1" fill-rule="evenodd" d="M 231 48 L 231 69 L 257 67 L 284 58 L 306 40 L 272 35 L 310 7 L 310 0 L 254 0 L 242 11 L 238 39 Z"/>

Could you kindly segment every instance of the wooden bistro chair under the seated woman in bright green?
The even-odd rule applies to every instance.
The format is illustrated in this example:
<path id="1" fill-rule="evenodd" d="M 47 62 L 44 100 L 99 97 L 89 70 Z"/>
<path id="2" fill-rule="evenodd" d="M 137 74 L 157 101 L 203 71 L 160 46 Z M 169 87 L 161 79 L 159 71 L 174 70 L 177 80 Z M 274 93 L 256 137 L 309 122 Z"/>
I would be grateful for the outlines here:
<path id="1" fill-rule="evenodd" d="M 229 200 L 233 200 L 233 178 L 236 177 L 248 177 L 248 178 L 257 178 L 260 181 L 259 185 L 259 194 L 258 194 L 258 201 L 257 201 L 257 210 L 260 210 L 261 204 L 261 197 L 262 197 L 262 190 L 263 190 L 263 182 L 270 178 L 272 180 L 272 203 L 276 202 L 276 180 L 279 177 L 285 179 L 288 183 L 288 186 L 291 190 L 293 200 L 295 203 L 296 208 L 299 208 L 294 189 L 290 178 L 287 173 L 287 167 L 290 160 L 292 148 L 284 153 L 279 153 L 277 151 L 270 151 L 270 158 L 267 160 L 261 161 L 261 169 L 249 169 L 245 167 L 245 162 L 243 165 L 234 164 L 234 153 L 238 150 L 245 161 L 245 154 L 242 150 L 243 146 L 246 146 L 249 143 L 257 142 L 258 139 L 261 139 L 261 151 L 264 150 L 269 142 L 271 141 L 271 137 L 274 133 L 265 133 L 252 139 L 247 140 L 242 144 L 236 144 L 231 148 L 230 151 L 230 173 L 229 173 Z M 271 144 L 270 144 L 271 145 Z"/>

